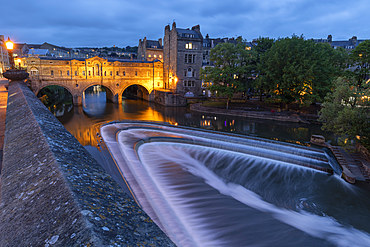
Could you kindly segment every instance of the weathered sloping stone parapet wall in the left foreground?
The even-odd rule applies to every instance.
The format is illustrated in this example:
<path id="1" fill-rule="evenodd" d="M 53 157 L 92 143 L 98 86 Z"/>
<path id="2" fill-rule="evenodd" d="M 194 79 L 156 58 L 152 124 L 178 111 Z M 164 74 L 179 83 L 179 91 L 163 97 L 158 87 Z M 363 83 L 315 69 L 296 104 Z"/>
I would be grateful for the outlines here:
<path id="1" fill-rule="evenodd" d="M 173 246 L 23 83 L 9 86 L 0 246 Z"/>

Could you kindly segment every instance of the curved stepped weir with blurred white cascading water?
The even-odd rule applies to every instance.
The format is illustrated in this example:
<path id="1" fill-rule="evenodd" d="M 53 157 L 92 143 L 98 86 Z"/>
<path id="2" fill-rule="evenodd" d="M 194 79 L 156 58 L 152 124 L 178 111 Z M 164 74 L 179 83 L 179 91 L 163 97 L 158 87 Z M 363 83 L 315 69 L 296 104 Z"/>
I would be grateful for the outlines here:
<path id="1" fill-rule="evenodd" d="M 340 179 L 325 150 L 159 123 L 101 134 L 179 246 L 369 246 L 370 195 Z"/>

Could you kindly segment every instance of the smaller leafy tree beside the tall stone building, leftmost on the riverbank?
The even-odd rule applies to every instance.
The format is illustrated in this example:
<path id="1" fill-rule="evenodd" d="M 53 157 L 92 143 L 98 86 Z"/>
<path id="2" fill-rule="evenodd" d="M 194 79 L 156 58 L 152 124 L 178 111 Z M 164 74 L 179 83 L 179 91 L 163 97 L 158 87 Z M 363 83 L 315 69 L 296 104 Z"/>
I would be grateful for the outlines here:
<path id="1" fill-rule="evenodd" d="M 202 70 L 201 76 L 204 82 L 211 84 L 211 91 L 227 97 L 227 109 L 234 94 L 248 87 L 253 70 L 253 53 L 246 49 L 241 37 L 237 39 L 236 44 L 221 43 L 210 52 L 214 66 Z"/>

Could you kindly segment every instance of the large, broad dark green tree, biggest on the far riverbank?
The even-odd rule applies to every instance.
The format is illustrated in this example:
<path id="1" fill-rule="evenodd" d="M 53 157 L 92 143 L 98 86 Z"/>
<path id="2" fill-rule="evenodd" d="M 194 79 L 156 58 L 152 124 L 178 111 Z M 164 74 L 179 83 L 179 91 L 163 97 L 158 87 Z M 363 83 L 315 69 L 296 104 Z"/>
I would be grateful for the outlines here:
<path id="1" fill-rule="evenodd" d="M 293 36 L 277 40 L 262 56 L 260 84 L 283 103 L 322 101 L 344 64 L 343 51 Z"/>

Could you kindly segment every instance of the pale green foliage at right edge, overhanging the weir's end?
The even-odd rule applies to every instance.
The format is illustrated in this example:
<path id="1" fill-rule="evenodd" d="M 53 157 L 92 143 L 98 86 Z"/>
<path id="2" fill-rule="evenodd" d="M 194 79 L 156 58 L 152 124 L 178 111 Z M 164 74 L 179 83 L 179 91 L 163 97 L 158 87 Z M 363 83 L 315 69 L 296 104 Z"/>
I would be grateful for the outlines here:
<path id="1" fill-rule="evenodd" d="M 337 134 L 344 144 L 359 139 L 370 148 L 369 96 L 369 84 L 358 87 L 356 79 L 338 78 L 320 111 L 323 129 Z"/>

